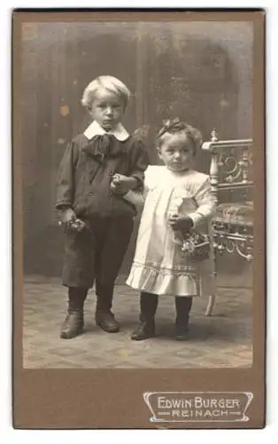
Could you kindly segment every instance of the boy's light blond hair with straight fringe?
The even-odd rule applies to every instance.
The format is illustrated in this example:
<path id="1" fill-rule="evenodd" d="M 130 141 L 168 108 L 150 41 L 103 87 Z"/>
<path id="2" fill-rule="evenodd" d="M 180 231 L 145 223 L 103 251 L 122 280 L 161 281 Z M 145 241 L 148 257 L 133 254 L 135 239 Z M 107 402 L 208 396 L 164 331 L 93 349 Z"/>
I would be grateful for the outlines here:
<path id="1" fill-rule="evenodd" d="M 99 89 L 104 89 L 119 96 L 124 103 L 124 107 L 127 107 L 127 102 L 130 98 L 130 91 L 125 83 L 122 83 L 116 77 L 112 75 L 99 75 L 85 88 L 81 99 L 83 107 L 91 107 L 93 100 L 95 99 L 96 92 Z"/>

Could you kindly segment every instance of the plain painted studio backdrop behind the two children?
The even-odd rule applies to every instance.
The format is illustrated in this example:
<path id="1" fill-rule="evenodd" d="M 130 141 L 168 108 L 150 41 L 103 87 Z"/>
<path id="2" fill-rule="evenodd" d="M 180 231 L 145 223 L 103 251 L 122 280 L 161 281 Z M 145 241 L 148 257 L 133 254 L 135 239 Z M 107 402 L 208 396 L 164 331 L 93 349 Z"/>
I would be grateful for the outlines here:
<path id="1" fill-rule="evenodd" d="M 154 137 L 168 117 L 197 126 L 205 140 L 213 128 L 220 139 L 251 138 L 251 50 L 247 22 L 24 24 L 25 272 L 61 274 L 56 174 L 66 143 L 89 123 L 81 94 L 94 77 L 115 75 L 133 92 L 124 124 L 130 132 L 141 131 L 151 163 L 158 163 Z M 197 155 L 199 170 L 208 172 L 209 163 L 209 157 Z M 135 234 L 123 274 L 134 242 Z"/>

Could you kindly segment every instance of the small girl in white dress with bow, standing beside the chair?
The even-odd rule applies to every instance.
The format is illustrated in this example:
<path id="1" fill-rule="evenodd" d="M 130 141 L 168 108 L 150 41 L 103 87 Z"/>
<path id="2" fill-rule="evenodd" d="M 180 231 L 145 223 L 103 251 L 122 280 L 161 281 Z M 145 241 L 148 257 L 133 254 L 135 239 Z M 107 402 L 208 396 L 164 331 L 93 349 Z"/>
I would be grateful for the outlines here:
<path id="1" fill-rule="evenodd" d="M 145 173 L 143 215 L 127 278 L 129 286 L 141 290 L 134 340 L 155 335 L 158 296 L 174 296 L 176 338 L 187 339 L 192 298 L 199 295 L 205 276 L 211 277 L 207 234 L 216 202 L 209 177 L 193 170 L 201 142 L 200 132 L 179 119 L 165 122 L 158 132 L 164 166 L 150 166 Z"/>

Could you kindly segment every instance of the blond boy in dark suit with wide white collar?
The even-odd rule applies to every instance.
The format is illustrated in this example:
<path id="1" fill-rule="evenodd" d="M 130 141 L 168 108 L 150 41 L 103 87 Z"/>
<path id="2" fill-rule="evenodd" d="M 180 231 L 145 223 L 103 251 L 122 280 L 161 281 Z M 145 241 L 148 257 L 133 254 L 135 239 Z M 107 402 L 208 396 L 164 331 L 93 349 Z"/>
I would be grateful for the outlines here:
<path id="1" fill-rule="evenodd" d="M 92 123 L 69 144 L 59 167 L 56 207 L 66 228 L 63 284 L 68 287 L 62 338 L 81 334 L 83 305 L 94 281 L 97 324 L 110 333 L 120 329 L 112 313 L 113 287 L 135 217 L 135 206 L 122 196 L 143 185 L 148 164 L 142 142 L 121 124 L 129 96 L 127 86 L 109 75 L 89 83 L 81 103 Z M 116 174 L 120 178 L 113 182 Z"/>

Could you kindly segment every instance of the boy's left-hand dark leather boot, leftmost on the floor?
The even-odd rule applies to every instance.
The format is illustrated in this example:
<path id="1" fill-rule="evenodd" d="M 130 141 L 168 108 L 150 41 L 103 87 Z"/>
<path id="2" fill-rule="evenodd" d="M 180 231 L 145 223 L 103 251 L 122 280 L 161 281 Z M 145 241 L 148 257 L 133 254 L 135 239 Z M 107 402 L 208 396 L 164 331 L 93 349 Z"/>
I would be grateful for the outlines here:
<path id="1" fill-rule="evenodd" d="M 66 319 L 62 324 L 61 339 L 72 339 L 81 335 L 84 330 L 83 305 L 87 297 L 87 289 L 68 289 L 68 308 Z"/>

